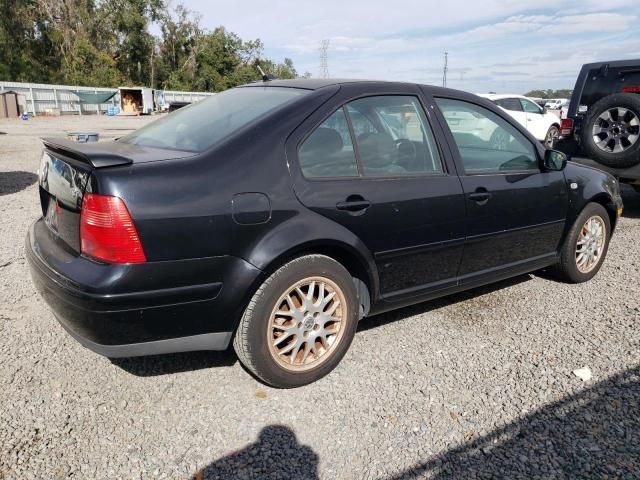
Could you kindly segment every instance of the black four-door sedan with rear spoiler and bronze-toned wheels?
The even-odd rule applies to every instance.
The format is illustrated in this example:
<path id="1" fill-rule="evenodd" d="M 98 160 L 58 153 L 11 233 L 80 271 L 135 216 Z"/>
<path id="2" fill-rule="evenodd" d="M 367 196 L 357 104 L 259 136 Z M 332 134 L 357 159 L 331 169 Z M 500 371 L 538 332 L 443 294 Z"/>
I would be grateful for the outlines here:
<path id="1" fill-rule="evenodd" d="M 319 379 L 357 322 L 553 267 L 593 277 L 616 180 L 489 101 L 423 85 L 267 81 L 109 143 L 45 139 L 34 282 L 109 357 L 222 350 Z"/>

